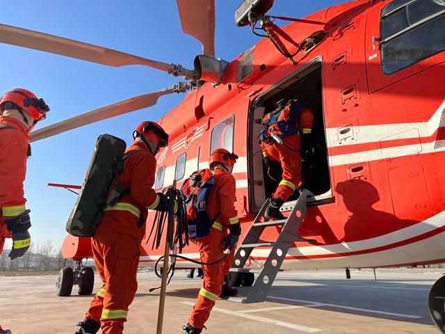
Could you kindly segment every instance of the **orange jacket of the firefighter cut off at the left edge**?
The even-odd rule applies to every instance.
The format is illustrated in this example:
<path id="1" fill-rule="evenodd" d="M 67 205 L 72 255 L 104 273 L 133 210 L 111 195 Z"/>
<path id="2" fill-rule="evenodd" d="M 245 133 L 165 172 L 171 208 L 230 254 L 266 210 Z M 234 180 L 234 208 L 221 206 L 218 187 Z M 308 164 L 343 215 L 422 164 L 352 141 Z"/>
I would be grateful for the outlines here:
<path id="1" fill-rule="evenodd" d="M 2 216 L 18 216 L 26 210 L 23 182 L 29 139 L 19 120 L 0 116 L 0 253 L 5 238 L 11 237 Z"/>

